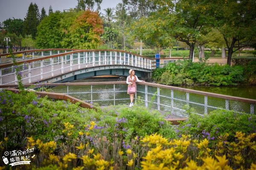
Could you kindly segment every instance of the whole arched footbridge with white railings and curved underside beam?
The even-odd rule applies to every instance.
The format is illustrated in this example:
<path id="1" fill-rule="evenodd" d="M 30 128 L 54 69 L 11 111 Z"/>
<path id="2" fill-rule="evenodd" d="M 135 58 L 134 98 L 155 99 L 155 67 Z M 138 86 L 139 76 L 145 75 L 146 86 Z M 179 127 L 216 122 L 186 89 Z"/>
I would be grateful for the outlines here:
<path id="1" fill-rule="evenodd" d="M 0 54 L 0 85 L 63 82 L 98 75 L 128 75 L 128 69 L 140 77 L 151 73 L 155 59 L 120 50 L 37 49 L 14 52 L 17 65 L 9 54 Z M 18 68 L 16 73 L 15 68 Z"/>

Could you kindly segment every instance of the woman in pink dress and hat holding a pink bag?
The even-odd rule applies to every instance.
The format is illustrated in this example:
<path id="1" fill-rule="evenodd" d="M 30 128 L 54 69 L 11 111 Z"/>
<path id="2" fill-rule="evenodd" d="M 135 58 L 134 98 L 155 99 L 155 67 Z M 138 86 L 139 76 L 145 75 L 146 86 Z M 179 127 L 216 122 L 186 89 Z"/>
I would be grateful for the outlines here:
<path id="1" fill-rule="evenodd" d="M 133 69 L 129 70 L 129 76 L 126 79 L 126 84 L 128 84 L 127 94 L 130 94 L 131 103 L 129 107 L 133 106 L 134 94 L 137 92 L 136 82 L 145 82 L 143 80 L 139 80 L 135 75 L 135 71 Z"/>

